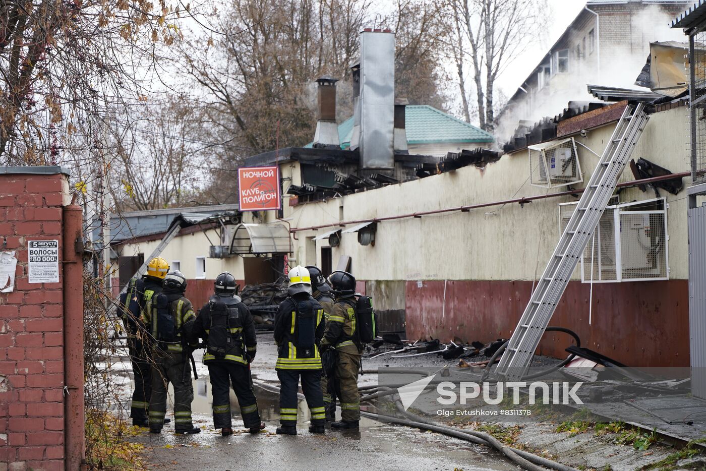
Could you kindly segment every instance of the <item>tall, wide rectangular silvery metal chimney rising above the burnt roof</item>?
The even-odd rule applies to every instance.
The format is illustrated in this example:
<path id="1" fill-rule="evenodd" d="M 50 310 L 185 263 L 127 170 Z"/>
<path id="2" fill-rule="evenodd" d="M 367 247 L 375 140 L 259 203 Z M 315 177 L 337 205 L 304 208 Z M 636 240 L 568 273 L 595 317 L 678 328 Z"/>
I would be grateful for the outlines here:
<path id="1" fill-rule="evenodd" d="M 360 34 L 359 152 L 363 169 L 395 167 L 395 34 Z"/>

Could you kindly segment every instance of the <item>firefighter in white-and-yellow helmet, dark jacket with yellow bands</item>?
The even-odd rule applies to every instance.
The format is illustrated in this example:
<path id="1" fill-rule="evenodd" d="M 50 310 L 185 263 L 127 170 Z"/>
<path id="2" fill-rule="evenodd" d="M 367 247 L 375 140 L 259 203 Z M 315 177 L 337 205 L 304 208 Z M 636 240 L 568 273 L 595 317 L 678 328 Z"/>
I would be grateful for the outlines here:
<path id="1" fill-rule="evenodd" d="M 326 414 L 321 393 L 321 356 L 318 343 L 325 327 L 323 308 L 311 296 L 309 270 L 289 271 L 289 297 L 275 314 L 277 376 L 280 378 L 280 423 L 277 434 L 297 434 L 297 391 L 301 390 L 311 413 L 309 431 L 323 434 Z"/>

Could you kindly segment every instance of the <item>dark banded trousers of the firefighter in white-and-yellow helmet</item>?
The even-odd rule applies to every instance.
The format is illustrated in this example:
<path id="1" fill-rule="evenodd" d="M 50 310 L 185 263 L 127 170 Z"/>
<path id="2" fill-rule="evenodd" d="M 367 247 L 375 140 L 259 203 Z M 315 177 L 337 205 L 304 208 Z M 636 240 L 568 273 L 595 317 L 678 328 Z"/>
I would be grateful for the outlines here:
<path id="1" fill-rule="evenodd" d="M 321 393 L 321 369 L 278 369 L 280 378 L 280 422 L 285 427 L 297 426 L 297 392 L 301 390 L 309 406 L 312 425 L 324 425 L 326 414 Z"/>

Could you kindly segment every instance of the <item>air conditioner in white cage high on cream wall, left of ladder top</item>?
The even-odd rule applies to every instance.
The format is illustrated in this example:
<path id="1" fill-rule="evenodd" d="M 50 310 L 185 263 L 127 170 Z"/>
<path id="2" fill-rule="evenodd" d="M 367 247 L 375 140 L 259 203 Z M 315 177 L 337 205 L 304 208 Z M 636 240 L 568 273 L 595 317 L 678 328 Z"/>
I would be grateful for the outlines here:
<path id="1" fill-rule="evenodd" d="M 532 185 L 552 188 L 583 181 L 573 138 L 530 145 L 527 149 Z"/>

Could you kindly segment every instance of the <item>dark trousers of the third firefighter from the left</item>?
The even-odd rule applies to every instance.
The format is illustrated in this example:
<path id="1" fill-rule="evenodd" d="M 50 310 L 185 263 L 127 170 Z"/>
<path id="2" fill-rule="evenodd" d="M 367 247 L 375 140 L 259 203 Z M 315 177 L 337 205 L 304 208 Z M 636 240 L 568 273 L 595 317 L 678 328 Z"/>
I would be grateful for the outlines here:
<path id="1" fill-rule="evenodd" d="M 212 360 L 206 365 L 213 389 L 213 427 L 232 428 L 230 415 L 230 388 L 233 387 L 243 424 L 247 429 L 260 427 L 260 412 L 253 391 L 250 369 L 244 364 L 228 360 Z"/>

